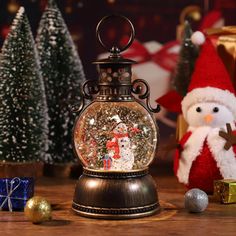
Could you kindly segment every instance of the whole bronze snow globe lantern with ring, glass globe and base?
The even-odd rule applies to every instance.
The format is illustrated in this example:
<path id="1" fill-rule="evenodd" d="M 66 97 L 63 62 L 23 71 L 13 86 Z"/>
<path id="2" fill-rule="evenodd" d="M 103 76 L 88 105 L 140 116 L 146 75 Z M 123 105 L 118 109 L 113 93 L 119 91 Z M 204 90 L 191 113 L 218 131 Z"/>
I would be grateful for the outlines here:
<path id="1" fill-rule="evenodd" d="M 99 30 L 113 17 L 117 16 L 106 16 L 97 25 L 97 37 L 105 48 Z M 78 117 L 73 145 L 84 171 L 76 184 L 72 209 L 87 217 L 137 218 L 160 208 L 155 182 L 148 174 L 159 142 L 151 112 L 160 108 L 151 108 L 144 80 L 131 82 L 134 61 L 120 52 L 133 42 L 134 28 L 126 17 L 118 17 L 131 26 L 130 39 L 121 49 L 112 47 L 108 58 L 95 62 L 99 80 L 83 85 L 84 98 L 93 102 L 85 108 L 84 102 L 74 107 Z"/>

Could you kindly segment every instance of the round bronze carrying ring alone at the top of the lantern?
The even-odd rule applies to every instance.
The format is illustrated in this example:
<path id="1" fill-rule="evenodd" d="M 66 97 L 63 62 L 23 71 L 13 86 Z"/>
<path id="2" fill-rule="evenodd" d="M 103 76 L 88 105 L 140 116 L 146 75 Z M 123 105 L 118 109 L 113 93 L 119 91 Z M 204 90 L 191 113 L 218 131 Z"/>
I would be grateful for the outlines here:
<path id="1" fill-rule="evenodd" d="M 102 27 L 102 25 L 104 24 L 104 22 L 106 22 L 107 20 L 109 20 L 110 18 L 114 18 L 114 17 L 119 17 L 121 19 L 124 19 L 125 21 L 127 21 L 130 25 L 130 30 L 131 30 L 131 35 L 130 35 L 130 38 L 129 38 L 129 41 L 127 42 L 127 44 L 122 47 L 122 48 L 119 48 L 118 46 L 113 46 L 112 48 L 108 48 L 108 46 L 102 41 L 102 38 L 101 38 L 101 35 L 100 35 L 100 28 Z M 110 53 L 115 53 L 115 54 L 119 54 L 120 52 L 123 52 L 125 51 L 131 44 L 132 42 L 134 41 L 134 37 L 135 37 L 135 31 L 134 31 L 134 26 L 133 24 L 131 23 L 131 21 L 125 17 L 125 16 L 122 16 L 122 15 L 119 15 L 119 14 L 112 14 L 112 15 L 108 15 L 108 16 L 105 16 L 103 17 L 99 23 L 97 24 L 97 28 L 96 28 L 96 35 L 97 35 L 97 38 L 98 38 L 98 41 L 100 42 L 100 44 Z"/>

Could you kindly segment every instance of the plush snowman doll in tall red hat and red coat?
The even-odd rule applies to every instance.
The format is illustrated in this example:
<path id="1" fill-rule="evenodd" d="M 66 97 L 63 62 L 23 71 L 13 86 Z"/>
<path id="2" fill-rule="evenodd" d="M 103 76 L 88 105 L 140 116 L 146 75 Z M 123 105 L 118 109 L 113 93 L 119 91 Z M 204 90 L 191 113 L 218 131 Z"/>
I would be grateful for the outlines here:
<path id="1" fill-rule="evenodd" d="M 236 97 L 209 39 L 181 105 L 189 128 L 176 150 L 175 174 L 187 188 L 212 193 L 214 180 L 236 179 Z"/>

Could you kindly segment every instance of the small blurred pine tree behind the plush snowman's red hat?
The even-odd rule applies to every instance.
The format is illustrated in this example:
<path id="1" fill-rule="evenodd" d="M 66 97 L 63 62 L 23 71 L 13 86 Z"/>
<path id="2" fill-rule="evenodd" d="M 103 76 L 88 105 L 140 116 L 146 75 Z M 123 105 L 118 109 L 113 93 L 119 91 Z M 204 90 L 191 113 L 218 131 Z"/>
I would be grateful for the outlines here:
<path id="1" fill-rule="evenodd" d="M 185 21 L 177 71 L 174 76 L 175 89 L 182 96 L 185 96 L 187 93 L 195 61 L 198 57 L 198 47 L 191 41 L 192 33 L 189 22 Z"/>

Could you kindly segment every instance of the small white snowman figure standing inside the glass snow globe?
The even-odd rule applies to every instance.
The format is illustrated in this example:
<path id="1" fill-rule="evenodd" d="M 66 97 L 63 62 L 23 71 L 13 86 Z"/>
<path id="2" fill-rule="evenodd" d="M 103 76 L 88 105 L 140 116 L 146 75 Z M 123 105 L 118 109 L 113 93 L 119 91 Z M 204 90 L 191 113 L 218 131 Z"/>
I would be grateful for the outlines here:
<path id="1" fill-rule="evenodd" d="M 111 141 L 116 142 L 119 147 L 119 158 L 114 158 L 114 151 L 110 151 L 112 158 L 111 170 L 131 170 L 134 164 L 134 154 L 131 147 L 130 138 L 127 135 L 127 126 L 120 123 L 113 130 L 114 135 L 124 135 L 123 137 L 114 137 Z"/>

